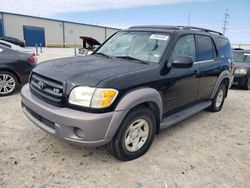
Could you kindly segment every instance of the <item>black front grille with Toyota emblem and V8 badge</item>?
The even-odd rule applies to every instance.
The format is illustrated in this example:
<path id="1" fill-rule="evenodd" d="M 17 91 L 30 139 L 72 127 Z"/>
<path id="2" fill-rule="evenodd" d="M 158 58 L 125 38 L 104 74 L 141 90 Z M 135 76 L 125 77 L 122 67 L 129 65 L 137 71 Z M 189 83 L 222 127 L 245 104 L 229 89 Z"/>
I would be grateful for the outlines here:
<path id="1" fill-rule="evenodd" d="M 34 95 L 51 104 L 61 106 L 63 103 L 63 84 L 58 81 L 33 73 L 30 89 Z"/>

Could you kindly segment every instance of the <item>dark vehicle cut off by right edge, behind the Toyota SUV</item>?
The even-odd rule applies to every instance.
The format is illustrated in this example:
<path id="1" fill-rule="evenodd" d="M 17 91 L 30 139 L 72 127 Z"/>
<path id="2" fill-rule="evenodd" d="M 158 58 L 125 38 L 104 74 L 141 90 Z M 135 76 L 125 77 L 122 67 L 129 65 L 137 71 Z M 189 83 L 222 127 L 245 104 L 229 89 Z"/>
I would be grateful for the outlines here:
<path id="1" fill-rule="evenodd" d="M 233 85 L 246 90 L 250 89 L 250 50 L 234 50 L 234 81 Z"/>

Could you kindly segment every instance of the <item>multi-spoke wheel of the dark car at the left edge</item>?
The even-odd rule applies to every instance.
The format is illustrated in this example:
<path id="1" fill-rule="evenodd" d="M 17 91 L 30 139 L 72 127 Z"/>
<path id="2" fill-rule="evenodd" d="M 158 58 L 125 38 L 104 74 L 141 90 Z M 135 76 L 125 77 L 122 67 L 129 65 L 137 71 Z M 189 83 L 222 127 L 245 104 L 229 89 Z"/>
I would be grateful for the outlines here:
<path id="1" fill-rule="evenodd" d="M 8 71 L 0 71 L 0 96 L 12 95 L 17 88 L 16 76 Z"/>

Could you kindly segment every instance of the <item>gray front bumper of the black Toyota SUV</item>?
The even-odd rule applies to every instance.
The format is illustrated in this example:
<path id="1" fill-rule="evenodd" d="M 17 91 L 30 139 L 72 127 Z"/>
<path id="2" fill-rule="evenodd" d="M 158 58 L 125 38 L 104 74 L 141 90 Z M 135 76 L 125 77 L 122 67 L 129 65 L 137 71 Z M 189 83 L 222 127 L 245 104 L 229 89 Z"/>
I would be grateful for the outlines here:
<path id="1" fill-rule="evenodd" d="M 38 127 L 76 145 L 97 147 L 112 139 L 127 111 L 87 113 L 50 105 L 31 94 L 28 84 L 21 90 L 24 114 Z M 77 136 L 76 129 L 83 132 Z"/>

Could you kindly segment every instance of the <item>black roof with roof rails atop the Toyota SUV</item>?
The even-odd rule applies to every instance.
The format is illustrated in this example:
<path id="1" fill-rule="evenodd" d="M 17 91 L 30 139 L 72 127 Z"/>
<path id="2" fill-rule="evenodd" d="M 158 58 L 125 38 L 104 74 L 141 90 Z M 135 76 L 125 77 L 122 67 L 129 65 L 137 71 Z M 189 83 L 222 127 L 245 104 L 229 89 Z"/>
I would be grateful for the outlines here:
<path id="1" fill-rule="evenodd" d="M 223 36 L 222 33 L 210 29 L 205 29 L 201 27 L 193 27 L 193 26 L 169 26 L 169 25 L 140 25 L 140 26 L 132 26 L 129 30 L 157 30 L 157 31 L 198 31 L 198 32 L 207 32 L 210 34 L 217 34 Z"/>

